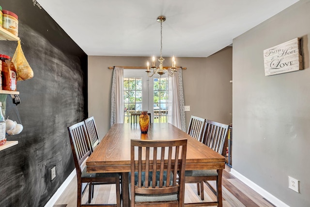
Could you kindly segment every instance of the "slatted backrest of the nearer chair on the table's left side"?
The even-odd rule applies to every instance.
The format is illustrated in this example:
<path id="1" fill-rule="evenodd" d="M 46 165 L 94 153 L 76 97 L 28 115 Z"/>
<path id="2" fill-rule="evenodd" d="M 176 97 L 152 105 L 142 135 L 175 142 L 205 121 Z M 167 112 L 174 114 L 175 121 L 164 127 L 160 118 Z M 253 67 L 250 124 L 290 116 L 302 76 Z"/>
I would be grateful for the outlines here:
<path id="1" fill-rule="evenodd" d="M 82 163 L 91 154 L 89 145 L 86 141 L 87 135 L 84 122 L 79 122 L 68 127 L 68 132 L 77 174 L 80 175 L 83 170 L 81 166 Z"/>

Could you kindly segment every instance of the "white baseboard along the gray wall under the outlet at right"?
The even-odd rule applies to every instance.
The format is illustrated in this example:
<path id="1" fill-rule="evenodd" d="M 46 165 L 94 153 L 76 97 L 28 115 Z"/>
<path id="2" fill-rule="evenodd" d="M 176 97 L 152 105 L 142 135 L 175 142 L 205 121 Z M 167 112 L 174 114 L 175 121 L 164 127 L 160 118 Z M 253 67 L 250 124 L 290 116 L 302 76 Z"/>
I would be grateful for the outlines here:
<path id="1" fill-rule="evenodd" d="M 241 175 L 237 171 L 235 171 L 233 168 L 231 168 L 231 174 L 244 182 L 248 187 L 259 193 L 260 195 L 263 196 L 263 198 L 267 199 L 270 203 L 275 205 L 276 207 L 290 207 L 287 204 L 283 203 L 279 198 L 275 197 L 268 191 L 264 190 L 262 187 L 258 186 L 256 183 L 253 181 L 249 180 L 247 177 L 244 175 Z"/>

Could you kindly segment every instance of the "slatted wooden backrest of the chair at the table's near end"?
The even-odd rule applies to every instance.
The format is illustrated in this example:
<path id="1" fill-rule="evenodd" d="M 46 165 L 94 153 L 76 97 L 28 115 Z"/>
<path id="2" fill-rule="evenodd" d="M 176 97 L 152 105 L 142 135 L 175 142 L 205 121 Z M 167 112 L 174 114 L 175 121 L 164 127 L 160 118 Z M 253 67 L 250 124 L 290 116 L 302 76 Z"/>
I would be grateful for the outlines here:
<path id="1" fill-rule="evenodd" d="M 186 145 L 186 139 L 131 140 L 131 195 L 184 191 Z M 138 181 L 135 181 L 137 171 Z M 134 197 L 131 199 L 132 202 L 135 200 Z"/>

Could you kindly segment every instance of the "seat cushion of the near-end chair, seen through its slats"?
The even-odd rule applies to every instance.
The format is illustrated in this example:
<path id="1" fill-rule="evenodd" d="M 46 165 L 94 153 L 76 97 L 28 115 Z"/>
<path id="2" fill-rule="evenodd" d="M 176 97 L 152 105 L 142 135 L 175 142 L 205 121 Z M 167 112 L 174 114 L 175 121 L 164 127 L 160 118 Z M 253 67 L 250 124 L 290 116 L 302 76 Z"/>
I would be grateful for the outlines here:
<path id="1" fill-rule="evenodd" d="M 159 174 L 160 172 L 156 172 L 156 186 L 159 186 Z M 149 186 L 152 186 L 152 175 L 153 172 L 149 173 Z M 129 198 L 131 198 L 131 173 L 129 173 Z M 163 185 L 166 185 L 167 172 L 164 173 Z M 145 180 L 145 172 L 141 174 L 141 180 Z M 173 174 L 170 175 L 170 185 L 173 182 Z M 135 172 L 135 183 L 138 185 L 138 172 Z M 142 186 L 145 186 L 145 181 L 142 182 Z M 156 202 L 156 201 L 176 201 L 178 200 L 178 194 L 175 193 L 167 193 L 167 194 L 136 194 L 135 202 Z"/>

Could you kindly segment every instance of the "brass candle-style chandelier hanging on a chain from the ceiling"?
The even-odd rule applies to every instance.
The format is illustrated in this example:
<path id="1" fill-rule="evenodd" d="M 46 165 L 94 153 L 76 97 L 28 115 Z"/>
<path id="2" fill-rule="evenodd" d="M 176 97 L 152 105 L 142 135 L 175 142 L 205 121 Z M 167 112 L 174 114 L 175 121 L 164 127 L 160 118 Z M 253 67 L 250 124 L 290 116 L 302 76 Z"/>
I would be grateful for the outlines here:
<path id="1" fill-rule="evenodd" d="M 152 66 L 150 67 L 150 63 L 149 61 L 146 63 L 147 65 L 147 71 L 145 71 L 148 75 L 148 77 L 152 77 L 154 76 L 154 74 L 158 74 L 159 76 L 162 76 L 166 73 L 168 73 L 169 76 L 174 76 L 174 74 L 178 71 L 176 66 L 175 66 L 175 58 L 174 56 L 172 57 L 172 67 L 168 67 L 168 68 L 163 68 L 163 61 L 165 60 L 162 57 L 162 49 L 163 49 L 163 35 L 162 35 L 162 23 L 166 20 L 165 16 L 158 16 L 156 19 L 158 22 L 160 22 L 160 58 L 158 59 L 159 61 L 159 68 L 157 68 L 157 66 L 155 65 L 155 56 L 153 56 L 152 58 Z M 150 70 L 151 69 L 151 70 Z"/>

